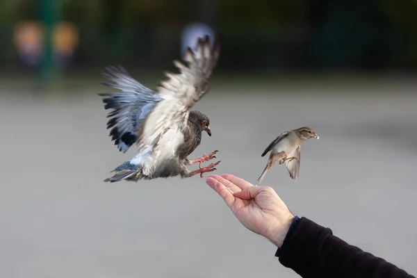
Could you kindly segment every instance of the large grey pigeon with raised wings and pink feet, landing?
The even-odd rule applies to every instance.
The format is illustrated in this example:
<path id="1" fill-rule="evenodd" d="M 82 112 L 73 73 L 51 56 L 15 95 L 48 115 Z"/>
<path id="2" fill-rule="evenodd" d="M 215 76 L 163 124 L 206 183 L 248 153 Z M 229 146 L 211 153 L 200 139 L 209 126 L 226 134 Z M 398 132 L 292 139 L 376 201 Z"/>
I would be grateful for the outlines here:
<path id="1" fill-rule="evenodd" d="M 209 90 L 208 81 L 220 55 L 221 34 L 213 47 L 208 35 L 199 38 L 195 51 L 188 47 L 182 62 L 174 60 L 179 73 L 165 72 L 166 80 L 151 90 L 133 79 L 123 67 L 108 67 L 104 77 L 111 81 L 103 85 L 121 92 L 99 93 L 110 120 L 107 129 L 120 152 L 135 144 L 138 154 L 111 172 L 113 177 L 104 181 L 139 181 L 181 176 L 193 177 L 215 171 L 220 163 L 202 167 L 214 154 L 191 160 L 188 156 L 200 145 L 202 132 L 211 136 L 210 119 L 191 108 Z M 190 172 L 186 165 L 199 163 L 199 169 Z"/>

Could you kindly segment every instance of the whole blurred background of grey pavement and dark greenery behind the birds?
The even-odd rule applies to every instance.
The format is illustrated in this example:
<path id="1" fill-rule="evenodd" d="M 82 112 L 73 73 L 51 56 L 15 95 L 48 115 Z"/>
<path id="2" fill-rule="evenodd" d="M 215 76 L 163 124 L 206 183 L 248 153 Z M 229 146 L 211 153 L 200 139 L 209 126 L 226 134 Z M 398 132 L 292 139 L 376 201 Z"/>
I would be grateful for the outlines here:
<path id="1" fill-rule="evenodd" d="M 255 183 L 270 141 L 311 126 L 320 140 L 304 143 L 300 179 L 276 166 L 263 185 L 416 275 L 416 11 L 411 0 L 3 0 L 1 277 L 297 277 L 204 179 L 103 182 L 135 149 L 108 137 L 101 71 L 120 64 L 154 88 L 191 27 L 224 33 L 195 107 L 213 136 L 191 158 L 218 149 L 216 173 Z"/>

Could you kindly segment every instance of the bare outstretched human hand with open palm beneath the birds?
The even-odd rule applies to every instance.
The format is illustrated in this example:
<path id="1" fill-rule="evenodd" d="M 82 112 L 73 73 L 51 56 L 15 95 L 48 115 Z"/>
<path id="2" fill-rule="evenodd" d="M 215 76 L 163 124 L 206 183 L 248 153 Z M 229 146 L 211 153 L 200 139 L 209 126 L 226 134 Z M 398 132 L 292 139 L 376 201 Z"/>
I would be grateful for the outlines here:
<path id="1" fill-rule="evenodd" d="M 231 174 L 212 174 L 206 183 L 224 199 L 243 226 L 281 247 L 294 215 L 275 190 L 254 186 Z"/>

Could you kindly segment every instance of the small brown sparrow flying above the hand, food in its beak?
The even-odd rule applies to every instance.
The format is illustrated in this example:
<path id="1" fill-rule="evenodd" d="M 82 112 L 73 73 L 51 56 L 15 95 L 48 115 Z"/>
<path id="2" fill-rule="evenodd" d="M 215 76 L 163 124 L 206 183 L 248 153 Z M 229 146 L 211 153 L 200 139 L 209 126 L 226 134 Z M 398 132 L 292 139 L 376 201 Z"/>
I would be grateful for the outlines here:
<path id="1" fill-rule="evenodd" d="M 281 133 L 275 140 L 273 140 L 261 156 L 265 156 L 268 152 L 272 151 L 268 159 L 268 164 L 263 170 L 258 182 L 261 183 L 265 177 L 266 172 L 275 163 L 285 163 L 288 173 L 292 179 L 297 179 L 300 172 L 300 147 L 302 142 L 307 139 L 316 138 L 316 132 L 308 126 L 303 126 L 300 129 L 294 129 L 291 131 L 285 131 Z"/>

